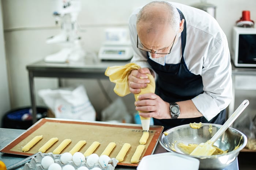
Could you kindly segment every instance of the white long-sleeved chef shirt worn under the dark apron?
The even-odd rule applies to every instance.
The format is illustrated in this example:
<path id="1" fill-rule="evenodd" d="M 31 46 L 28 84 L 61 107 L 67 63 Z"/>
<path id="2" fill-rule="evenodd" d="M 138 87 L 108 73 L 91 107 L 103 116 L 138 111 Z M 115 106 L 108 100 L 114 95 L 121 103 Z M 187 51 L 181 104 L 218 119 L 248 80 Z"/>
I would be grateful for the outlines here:
<path id="1" fill-rule="evenodd" d="M 197 110 L 209 121 L 225 109 L 232 98 L 231 63 L 227 38 L 218 22 L 207 12 L 179 3 L 170 3 L 180 9 L 187 22 L 184 60 L 191 73 L 202 76 L 204 90 L 204 93 L 192 98 L 192 101 Z M 129 18 L 129 32 L 133 47 L 131 62 L 141 67 L 151 68 L 147 63 L 147 52 L 137 48 L 136 16 L 140 9 L 133 11 Z M 176 39 L 170 54 L 157 59 L 150 57 L 150 59 L 161 65 L 180 63 L 181 33 Z"/>

